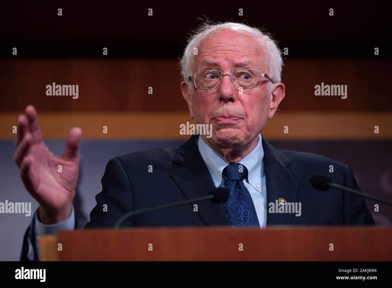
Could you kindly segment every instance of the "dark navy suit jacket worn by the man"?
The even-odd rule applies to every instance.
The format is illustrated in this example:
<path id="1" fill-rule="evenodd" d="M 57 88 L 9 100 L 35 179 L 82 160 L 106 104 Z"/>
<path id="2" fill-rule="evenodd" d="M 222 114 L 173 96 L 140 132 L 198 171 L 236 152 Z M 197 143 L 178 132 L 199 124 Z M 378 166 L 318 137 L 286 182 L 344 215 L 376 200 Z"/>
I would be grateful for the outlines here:
<path id="1" fill-rule="evenodd" d="M 102 178 L 102 192 L 85 228 L 113 227 L 125 213 L 194 197 L 215 188 L 211 174 L 192 135 L 178 149 L 153 149 L 113 158 Z M 301 202 L 301 216 L 267 213 L 270 225 L 374 225 L 361 196 L 312 187 L 310 177 L 327 174 L 332 182 L 359 190 L 348 165 L 311 153 L 278 150 L 262 138 L 267 185 L 267 203 L 279 198 Z M 149 165 L 152 172 L 149 172 Z M 330 165 L 334 172 L 329 173 Z M 103 205 L 107 205 L 107 212 Z M 198 204 L 194 212 L 193 205 Z M 269 207 L 267 207 L 268 209 Z M 122 226 L 222 226 L 230 225 L 223 204 L 203 201 L 133 216 Z M 31 229 L 29 229 L 31 228 Z M 25 233 L 21 260 L 27 260 L 29 241 L 34 244 L 34 227 Z M 27 239 L 29 238 L 29 239 Z M 32 245 L 35 250 L 35 245 Z M 34 251 L 35 252 L 35 251 Z M 38 258 L 34 254 L 34 259 Z"/>

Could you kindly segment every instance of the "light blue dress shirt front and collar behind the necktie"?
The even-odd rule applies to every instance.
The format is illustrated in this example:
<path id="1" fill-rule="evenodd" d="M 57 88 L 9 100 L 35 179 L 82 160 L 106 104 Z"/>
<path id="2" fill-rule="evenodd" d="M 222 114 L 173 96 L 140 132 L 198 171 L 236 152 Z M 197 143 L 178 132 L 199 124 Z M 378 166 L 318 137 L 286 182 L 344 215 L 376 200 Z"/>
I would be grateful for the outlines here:
<path id="1" fill-rule="evenodd" d="M 198 139 L 198 148 L 201 157 L 210 171 L 215 187 L 224 187 L 225 179 L 222 176 L 222 172 L 230 163 L 226 161 L 223 155 L 212 150 L 200 136 Z M 267 225 L 267 185 L 265 183 L 263 159 L 264 150 L 263 144 L 261 143 L 261 135 L 259 134 L 256 147 L 239 163 L 248 169 L 248 178 L 243 179 L 243 182 L 252 197 L 260 228 L 265 228 Z"/>

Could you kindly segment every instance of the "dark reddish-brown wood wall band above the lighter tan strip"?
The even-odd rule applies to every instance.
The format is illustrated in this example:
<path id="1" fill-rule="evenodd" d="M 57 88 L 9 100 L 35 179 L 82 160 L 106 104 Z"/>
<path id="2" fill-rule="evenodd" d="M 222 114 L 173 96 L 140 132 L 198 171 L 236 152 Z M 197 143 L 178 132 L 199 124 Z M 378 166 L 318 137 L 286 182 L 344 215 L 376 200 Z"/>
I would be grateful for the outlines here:
<path id="1" fill-rule="evenodd" d="M 105 56 L 102 56 L 105 57 Z M 392 110 L 392 60 L 290 58 L 283 67 L 282 111 Z M 0 112 L 187 111 L 176 58 L 0 59 Z M 79 85 L 79 98 L 47 96 L 46 85 Z M 315 96 L 314 85 L 347 85 L 348 97 Z M 148 87 L 153 94 L 148 94 Z"/>

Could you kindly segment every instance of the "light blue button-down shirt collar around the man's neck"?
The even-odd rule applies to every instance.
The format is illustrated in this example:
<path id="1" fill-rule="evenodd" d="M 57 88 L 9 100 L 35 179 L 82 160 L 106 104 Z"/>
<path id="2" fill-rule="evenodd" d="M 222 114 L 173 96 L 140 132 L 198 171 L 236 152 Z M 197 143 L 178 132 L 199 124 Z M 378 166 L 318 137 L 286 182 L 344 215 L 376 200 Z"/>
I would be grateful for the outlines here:
<path id="1" fill-rule="evenodd" d="M 198 149 L 203 158 L 208 170 L 212 176 L 215 187 L 219 187 L 222 182 L 222 172 L 223 169 L 230 163 L 226 161 L 223 155 L 212 150 L 203 140 L 201 136 L 198 139 Z M 243 158 L 239 163 L 244 165 L 248 169 L 248 182 L 254 186 L 255 183 L 252 181 L 258 181 L 264 174 L 263 171 L 263 158 L 264 150 L 263 144 L 261 142 L 261 135 L 259 134 L 259 139 L 256 147 Z M 260 183 L 260 181 L 258 181 Z"/>

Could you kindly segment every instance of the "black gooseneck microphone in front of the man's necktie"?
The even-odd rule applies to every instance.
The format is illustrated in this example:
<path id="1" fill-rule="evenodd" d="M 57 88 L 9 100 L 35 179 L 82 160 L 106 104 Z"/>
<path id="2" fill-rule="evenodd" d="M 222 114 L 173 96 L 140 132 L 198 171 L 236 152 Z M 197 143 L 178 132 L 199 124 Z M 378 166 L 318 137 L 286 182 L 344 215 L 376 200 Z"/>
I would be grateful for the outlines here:
<path id="1" fill-rule="evenodd" d="M 176 207 L 176 206 L 186 205 L 191 202 L 199 202 L 199 201 L 205 201 L 205 200 L 211 200 L 214 203 L 223 203 L 227 199 L 229 199 L 229 190 L 225 187 L 218 187 L 218 188 L 211 190 L 207 196 L 188 199 L 188 200 L 184 200 L 184 201 L 180 201 L 180 202 L 160 205 L 160 206 L 151 207 L 151 208 L 130 211 L 127 214 L 125 214 L 124 216 L 122 216 L 117 221 L 114 228 L 120 227 L 120 225 L 125 221 L 125 219 L 127 219 L 128 217 L 137 215 L 137 214 L 142 214 L 142 213 L 152 212 L 152 211 L 157 211 L 157 210 L 163 210 L 163 209 L 172 208 L 172 207 Z"/>

